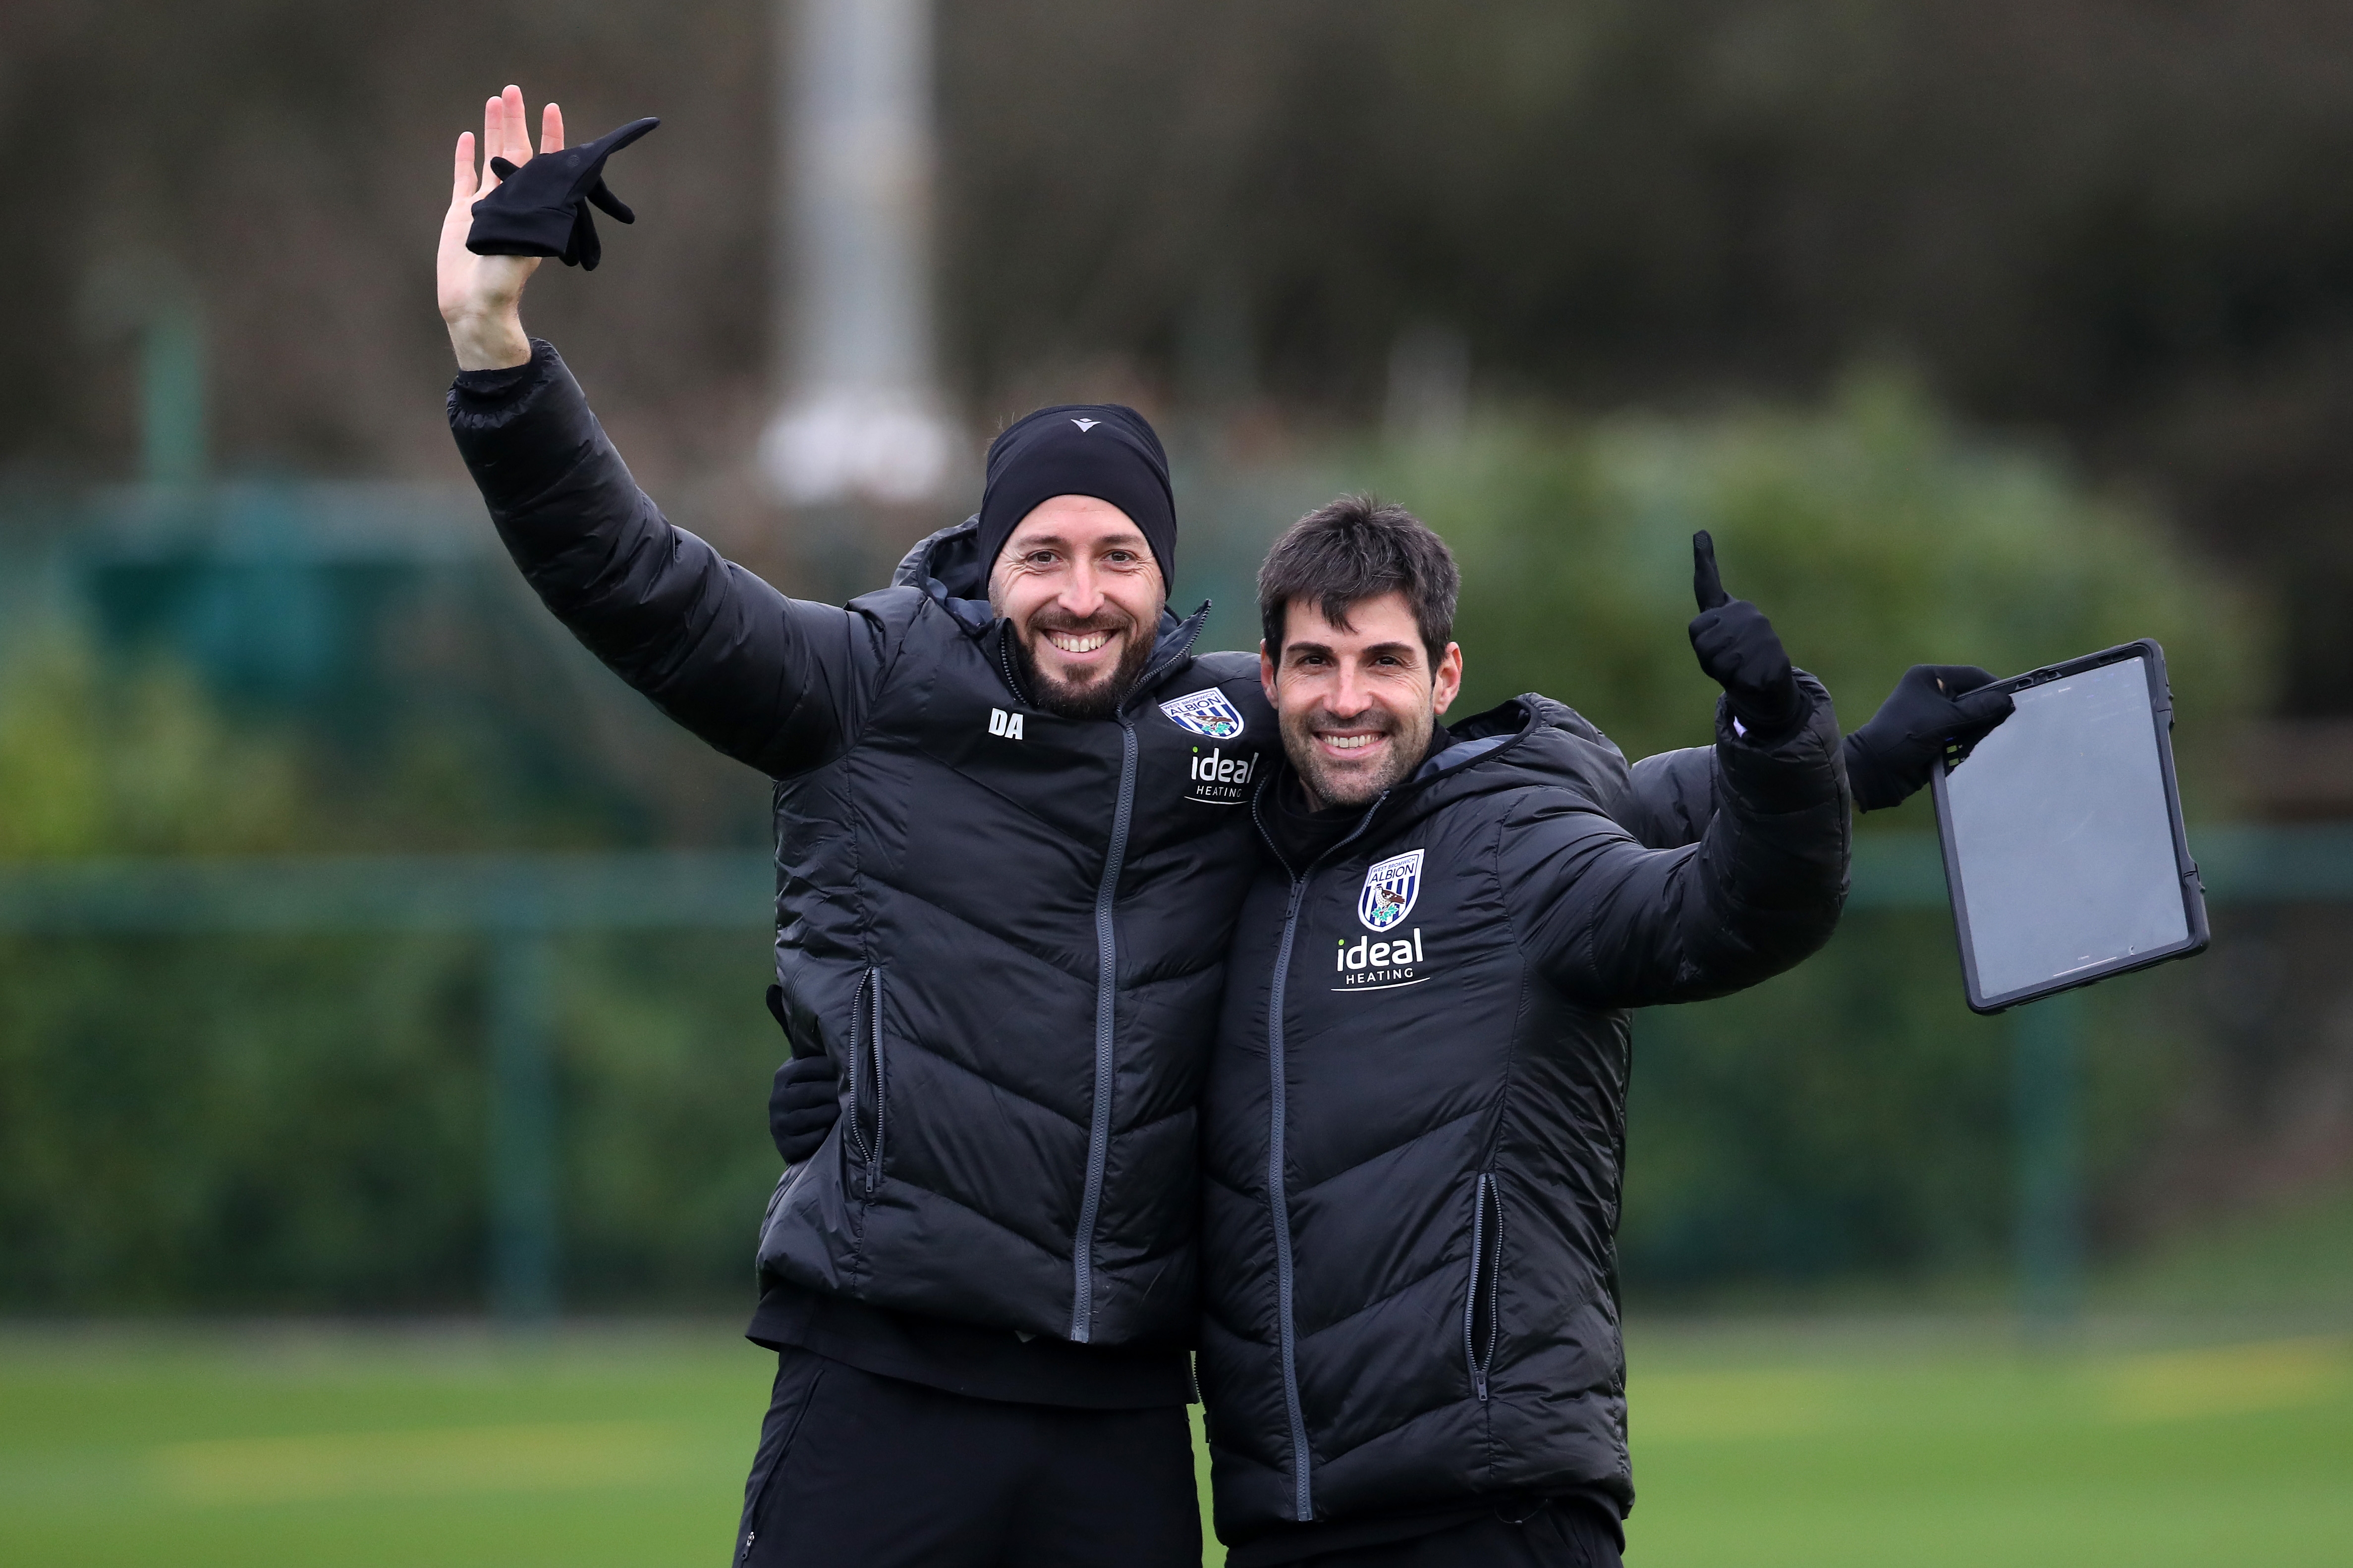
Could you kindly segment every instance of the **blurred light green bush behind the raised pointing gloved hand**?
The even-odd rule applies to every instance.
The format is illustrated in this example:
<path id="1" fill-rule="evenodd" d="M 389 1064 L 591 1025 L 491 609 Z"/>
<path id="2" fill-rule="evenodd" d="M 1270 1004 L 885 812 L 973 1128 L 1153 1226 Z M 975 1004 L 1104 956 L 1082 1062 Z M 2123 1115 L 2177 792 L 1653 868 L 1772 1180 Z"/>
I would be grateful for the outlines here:
<path id="1" fill-rule="evenodd" d="M 2200 764 L 2193 809 L 2212 809 L 2228 722 L 2268 696 L 2240 590 L 2059 458 L 1969 440 L 1901 374 L 1852 376 L 1821 411 L 1492 418 L 1393 447 L 1369 480 L 1461 559 L 1461 712 L 1544 691 L 1628 757 L 1711 733 L 1715 686 L 1682 632 L 1697 529 L 1847 729 L 1915 663 L 2017 675 L 2155 637 Z"/>

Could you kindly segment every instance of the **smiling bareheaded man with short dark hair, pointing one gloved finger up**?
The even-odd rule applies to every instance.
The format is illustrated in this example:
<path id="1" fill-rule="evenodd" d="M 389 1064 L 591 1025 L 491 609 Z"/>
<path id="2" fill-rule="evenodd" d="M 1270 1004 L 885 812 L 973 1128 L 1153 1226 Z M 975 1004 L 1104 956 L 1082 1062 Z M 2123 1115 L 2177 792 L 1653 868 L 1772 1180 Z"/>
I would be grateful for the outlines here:
<path id="1" fill-rule="evenodd" d="M 1202 1396 L 1233 1568 L 1617 1563 L 1628 1011 L 1814 952 L 1828 693 L 1715 585 L 1715 745 L 1628 769 L 1520 696 L 1452 729 L 1454 559 L 1341 498 L 1259 574 L 1282 762 L 1202 1098 Z"/>

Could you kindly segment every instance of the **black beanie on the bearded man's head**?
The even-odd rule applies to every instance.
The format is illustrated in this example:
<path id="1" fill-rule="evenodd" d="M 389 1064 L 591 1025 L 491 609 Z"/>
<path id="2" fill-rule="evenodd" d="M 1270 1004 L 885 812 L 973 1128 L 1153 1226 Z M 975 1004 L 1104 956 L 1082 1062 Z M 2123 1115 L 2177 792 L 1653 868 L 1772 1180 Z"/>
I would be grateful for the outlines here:
<path id="1" fill-rule="evenodd" d="M 1160 585 L 1176 583 L 1169 461 L 1141 414 L 1115 402 L 1073 402 L 1026 414 L 988 442 L 979 531 L 984 571 L 995 571 L 1014 524 L 1054 496 L 1094 496 L 1127 512 L 1153 548 Z"/>

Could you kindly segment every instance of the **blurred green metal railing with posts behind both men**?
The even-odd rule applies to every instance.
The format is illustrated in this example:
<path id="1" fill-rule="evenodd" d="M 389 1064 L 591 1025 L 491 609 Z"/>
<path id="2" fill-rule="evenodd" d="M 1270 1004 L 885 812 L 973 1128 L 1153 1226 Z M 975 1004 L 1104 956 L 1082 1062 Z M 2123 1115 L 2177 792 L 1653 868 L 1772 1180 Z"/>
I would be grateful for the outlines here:
<path id="1" fill-rule="evenodd" d="M 2191 835 L 2214 903 L 2353 903 L 2353 825 Z M 555 1112 L 548 940 L 567 931 L 711 931 L 769 919 L 765 853 L 99 860 L 0 867 L 0 933 L 466 933 L 489 947 L 489 1298 L 555 1309 Z M 1929 835 L 1866 835 L 1849 910 L 1944 910 Z M 1953 1006 L 1962 1006 L 1955 985 Z M 2012 1011 L 2019 1305 L 2075 1312 L 2080 992 Z"/>

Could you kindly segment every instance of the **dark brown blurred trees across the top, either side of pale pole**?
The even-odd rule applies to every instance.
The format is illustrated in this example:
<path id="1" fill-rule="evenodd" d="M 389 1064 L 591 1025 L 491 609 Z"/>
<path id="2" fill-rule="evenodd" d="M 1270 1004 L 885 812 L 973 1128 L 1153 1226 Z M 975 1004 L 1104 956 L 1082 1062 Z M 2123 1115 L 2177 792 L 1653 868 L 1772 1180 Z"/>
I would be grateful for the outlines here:
<path id="1" fill-rule="evenodd" d="M 504 80 L 666 115 L 647 221 L 551 270 L 640 473 L 758 543 L 769 9 L 28 0 L 0 14 L 0 463 L 127 465 L 85 284 L 195 282 L 231 465 L 449 473 L 426 266 Z M 2353 710 L 2353 12 L 2327 0 L 941 0 L 951 364 L 986 428 L 1082 386 L 1362 418 L 1400 331 L 1584 407 L 1809 397 L 1904 357 L 2146 477 L 2282 590 Z M 1217 348 L 1209 355 L 1209 348 Z M 1214 386 L 1188 367 L 1217 360 Z M 1179 374 L 1184 371 L 1184 374 Z M 1202 386 L 1195 386 L 1202 383 Z"/>

